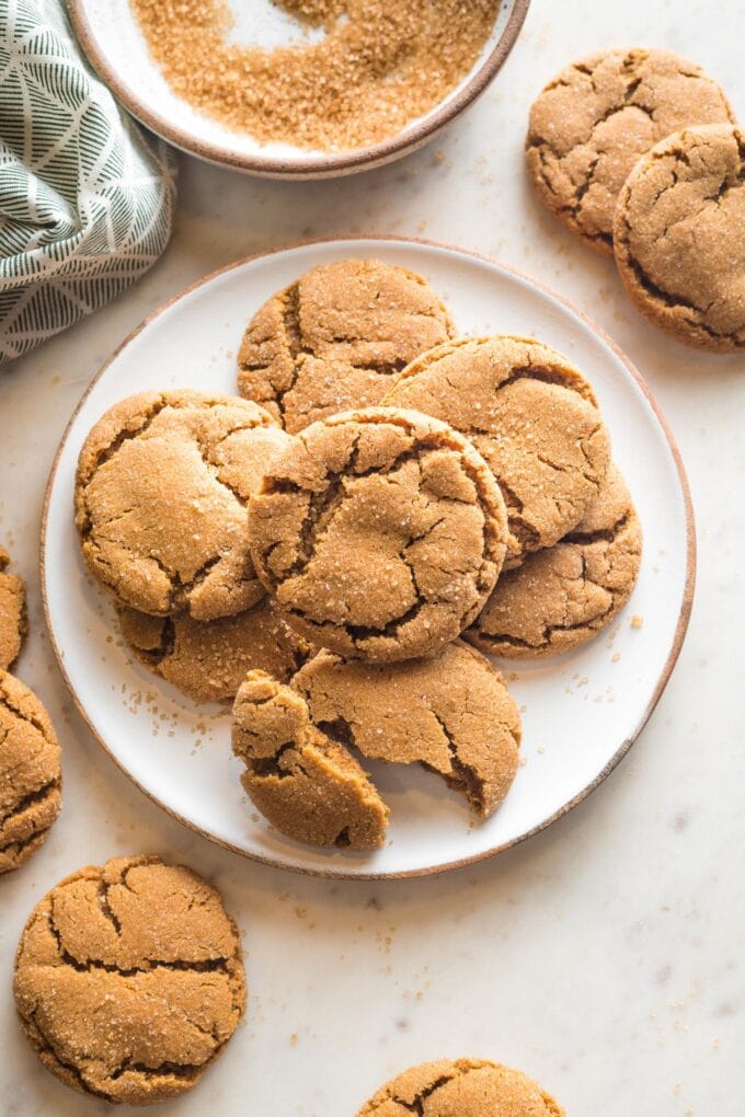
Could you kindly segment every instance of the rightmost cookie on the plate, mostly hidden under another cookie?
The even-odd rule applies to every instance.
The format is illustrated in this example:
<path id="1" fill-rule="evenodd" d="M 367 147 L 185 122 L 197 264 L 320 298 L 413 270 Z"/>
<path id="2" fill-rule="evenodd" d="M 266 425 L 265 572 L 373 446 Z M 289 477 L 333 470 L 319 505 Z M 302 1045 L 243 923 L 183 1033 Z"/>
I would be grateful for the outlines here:
<path id="1" fill-rule="evenodd" d="M 611 466 L 582 523 L 507 571 L 465 633 L 483 651 L 523 659 L 577 648 L 627 603 L 641 565 L 641 527 Z"/>

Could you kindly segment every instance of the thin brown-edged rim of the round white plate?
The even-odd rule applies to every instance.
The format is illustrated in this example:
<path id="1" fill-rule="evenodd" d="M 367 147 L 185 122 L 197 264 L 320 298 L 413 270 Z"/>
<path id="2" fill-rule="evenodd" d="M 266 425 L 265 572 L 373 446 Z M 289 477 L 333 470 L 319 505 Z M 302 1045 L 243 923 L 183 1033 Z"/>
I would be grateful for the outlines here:
<path id="1" fill-rule="evenodd" d="M 657 680 L 650 700 L 647 704 L 646 708 L 643 709 L 641 717 L 637 723 L 633 732 L 628 737 L 625 737 L 624 741 L 621 742 L 618 750 L 613 753 L 613 755 L 608 761 L 605 766 L 601 770 L 601 772 L 599 772 L 598 775 L 593 780 L 591 780 L 589 784 L 586 784 L 583 789 L 581 789 L 571 800 L 569 800 L 556 811 L 554 811 L 553 814 L 548 815 L 548 818 L 544 819 L 537 825 L 532 827 L 529 830 L 525 831 L 525 833 L 518 834 L 516 838 L 513 838 L 509 841 L 503 842 L 499 846 L 494 846 L 487 850 L 481 850 L 480 852 L 474 853 L 466 858 L 458 858 L 455 861 L 447 861 L 442 865 L 436 865 L 436 866 L 424 866 L 422 868 L 417 868 L 417 869 L 403 869 L 398 872 L 397 871 L 374 872 L 365 870 L 350 871 L 347 869 L 336 868 L 336 867 L 333 869 L 332 868 L 321 869 L 321 868 L 308 867 L 305 865 L 293 865 L 271 855 L 249 852 L 248 850 L 241 849 L 239 846 L 236 846 L 233 842 L 229 842 L 222 838 L 218 838 L 216 834 L 210 833 L 202 827 L 197 825 L 194 822 L 184 818 L 173 808 L 162 802 L 162 800 L 159 799 L 159 796 L 155 795 L 147 787 L 143 786 L 143 784 L 134 777 L 134 775 L 128 771 L 128 768 L 124 766 L 124 764 L 120 761 L 118 756 L 116 756 L 108 747 L 106 742 L 103 739 L 98 731 L 93 725 L 93 722 L 90 720 L 85 707 L 83 706 L 83 703 L 80 701 L 77 695 L 73 681 L 69 678 L 69 675 L 66 670 L 64 657 L 57 645 L 57 639 L 51 626 L 51 618 L 49 614 L 49 601 L 47 598 L 47 581 L 46 581 L 47 519 L 49 513 L 49 505 L 51 500 L 51 491 L 55 485 L 55 479 L 57 477 L 59 459 L 67 445 L 67 440 L 69 438 L 73 426 L 84 403 L 86 402 L 88 395 L 94 390 L 94 388 L 96 386 L 103 374 L 106 372 L 108 366 L 113 364 L 114 361 L 118 357 L 120 353 L 122 353 L 127 345 L 130 345 L 152 322 L 154 322 L 155 318 L 159 318 L 163 313 L 165 313 L 165 311 L 170 309 L 170 307 L 173 306 L 175 303 L 180 302 L 182 298 L 185 298 L 188 295 L 192 294 L 194 290 L 198 290 L 200 287 L 203 287 L 207 284 L 211 283 L 213 279 L 217 279 L 219 276 L 226 275 L 229 271 L 233 271 L 236 268 L 243 267 L 246 264 L 251 264 L 255 260 L 259 260 L 265 257 L 276 256 L 280 252 L 292 251 L 298 248 L 307 248 L 314 246 L 334 246 L 340 244 L 346 244 L 350 241 L 353 242 L 363 240 L 379 241 L 388 245 L 405 245 L 405 246 L 414 245 L 414 246 L 423 246 L 427 248 L 436 248 L 439 250 L 445 250 L 446 252 L 449 254 L 455 254 L 457 256 L 465 257 L 467 259 L 478 260 L 480 262 L 496 266 L 500 268 L 503 271 L 506 271 L 508 275 L 515 276 L 523 283 L 527 283 L 533 287 L 537 288 L 544 295 L 548 295 L 551 298 L 556 299 L 556 302 L 558 302 L 562 306 L 566 307 L 566 309 L 569 309 L 570 313 L 576 315 L 576 317 L 579 317 L 585 325 L 588 325 L 621 361 L 621 363 L 625 366 L 627 371 L 630 373 L 632 380 L 637 383 L 640 391 L 644 395 L 647 402 L 651 407 L 655 417 L 660 424 L 662 433 L 665 435 L 670 454 L 672 456 L 672 460 L 676 467 L 676 472 L 678 476 L 678 481 L 680 484 L 680 490 L 682 493 L 685 518 L 686 518 L 686 576 L 684 582 L 680 612 L 678 613 L 678 621 L 676 624 L 670 651 L 665 661 L 662 670 L 660 671 L 660 676 Z M 585 799 L 588 799 L 593 791 L 598 790 L 598 787 L 618 767 L 618 765 L 621 763 L 624 756 L 628 755 L 632 745 L 637 742 L 642 729 L 644 728 L 649 718 L 655 712 L 655 708 L 659 703 L 665 691 L 665 688 L 667 687 L 670 680 L 670 676 L 676 666 L 676 662 L 678 660 L 680 650 L 682 648 L 686 638 L 686 632 L 688 630 L 688 622 L 690 620 L 690 613 L 694 603 L 694 592 L 696 586 L 696 565 L 697 565 L 696 525 L 694 516 L 694 506 L 690 496 L 690 487 L 688 485 L 688 478 L 686 475 L 685 466 L 682 464 L 680 450 L 678 449 L 675 436 L 672 435 L 672 431 L 667 422 L 667 419 L 665 418 L 665 414 L 660 409 L 660 405 L 657 402 L 657 399 L 655 398 L 651 389 L 649 388 L 649 385 L 647 384 L 647 382 L 644 381 L 643 376 L 638 371 L 636 365 L 625 355 L 625 353 L 621 350 L 621 347 L 613 341 L 613 338 L 609 334 L 606 334 L 605 331 L 590 317 L 590 315 L 585 314 L 584 311 L 581 311 L 579 307 L 574 306 L 574 304 L 571 303 L 569 299 L 564 298 L 563 295 L 557 294 L 555 290 L 553 290 L 553 288 L 546 286 L 545 284 L 541 283 L 537 279 L 534 279 L 532 276 L 528 276 L 526 273 L 520 271 L 518 268 L 514 268 L 510 265 L 503 264 L 494 256 L 489 256 L 486 252 L 479 252 L 474 249 L 462 248 L 457 245 L 451 245 L 448 244 L 447 241 L 431 240 L 423 237 L 403 237 L 403 236 L 391 237 L 384 233 L 380 235 L 355 233 L 346 237 L 316 237 L 316 238 L 292 241 L 289 244 L 280 245 L 275 248 L 268 248 L 268 249 L 262 249 L 261 251 L 258 252 L 252 252 L 251 255 L 241 257 L 238 260 L 233 260 L 231 264 L 227 264 L 221 268 L 217 268 L 214 271 L 211 271 L 208 275 L 202 276 L 201 279 L 197 279 L 194 283 L 189 284 L 188 287 L 184 287 L 182 290 L 171 296 L 171 298 L 169 298 L 165 303 L 162 303 L 159 307 L 156 307 L 149 315 L 146 315 L 142 319 L 142 322 L 137 326 L 135 326 L 135 328 L 132 330 L 126 335 L 126 337 L 124 337 L 122 342 L 120 342 L 120 344 L 114 349 L 114 351 L 106 359 L 106 361 L 101 365 L 98 371 L 92 378 L 85 392 L 78 400 L 75 409 L 73 410 L 73 413 L 70 414 L 70 418 L 59 440 L 57 450 L 55 451 L 51 467 L 49 469 L 49 476 L 47 479 L 47 485 L 44 495 L 44 504 L 41 508 L 41 525 L 39 534 L 40 534 L 39 583 L 41 588 L 44 620 L 47 633 L 49 636 L 49 642 L 55 653 L 55 659 L 57 660 L 57 666 L 59 668 L 59 671 L 63 676 L 65 685 L 70 694 L 70 697 L 73 699 L 73 703 L 75 704 L 78 714 L 85 722 L 94 739 L 103 748 L 106 755 L 116 764 L 120 771 L 127 776 L 127 779 L 134 784 L 134 786 L 137 787 L 139 791 L 141 791 L 144 795 L 147 796 L 147 799 L 151 800 L 151 802 L 155 803 L 161 810 L 165 811 L 165 813 L 169 814 L 172 819 L 175 819 L 178 822 L 182 823 L 182 825 L 187 827 L 192 832 L 198 833 L 200 837 L 206 838 L 208 841 L 211 841 L 214 844 L 220 846 L 232 853 L 237 853 L 239 857 L 246 858 L 249 861 L 256 861 L 268 868 L 283 869 L 286 872 L 297 872 L 300 876 L 306 876 L 306 877 L 319 877 L 324 879 L 334 879 L 334 880 L 405 880 L 418 877 L 430 877 L 442 872 L 450 872 L 455 869 L 464 869 L 467 868 L 468 866 L 476 865 L 479 861 L 486 861 L 491 857 L 496 857 L 498 853 L 504 853 L 508 849 L 512 849 L 515 846 L 519 846 L 524 841 L 527 841 L 529 838 L 536 837 L 536 834 L 539 834 L 542 833 L 542 831 L 547 830 L 548 827 L 551 827 L 554 822 L 557 822 L 560 819 L 569 814 L 572 810 L 574 810 L 575 806 L 579 806 L 579 804 L 582 803 Z"/>

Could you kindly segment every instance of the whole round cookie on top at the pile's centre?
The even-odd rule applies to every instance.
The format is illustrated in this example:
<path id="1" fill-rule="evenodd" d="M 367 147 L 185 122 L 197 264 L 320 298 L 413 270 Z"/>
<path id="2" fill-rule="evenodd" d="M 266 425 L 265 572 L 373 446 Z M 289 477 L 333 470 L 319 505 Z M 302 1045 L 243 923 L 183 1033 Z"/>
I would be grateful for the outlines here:
<path id="1" fill-rule="evenodd" d="M 300 431 L 249 509 L 256 570 L 288 622 L 313 643 L 371 660 L 453 640 L 494 589 L 506 528 L 499 488 L 470 442 L 394 408 Z"/>

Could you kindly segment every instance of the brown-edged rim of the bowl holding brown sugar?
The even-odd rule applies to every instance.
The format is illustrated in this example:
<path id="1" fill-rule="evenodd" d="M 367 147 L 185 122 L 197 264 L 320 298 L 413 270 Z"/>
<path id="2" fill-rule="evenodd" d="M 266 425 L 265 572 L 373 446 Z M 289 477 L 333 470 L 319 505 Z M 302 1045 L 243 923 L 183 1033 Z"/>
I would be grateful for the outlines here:
<path id="1" fill-rule="evenodd" d="M 187 128 L 172 124 L 165 116 L 143 104 L 127 84 L 123 73 L 111 66 L 103 54 L 95 28 L 88 16 L 87 0 L 67 0 L 67 10 L 78 41 L 98 77 L 116 99 L 142 124 L 190 155 L 249 174 L 268 178 L 307 179 L 353 174 L 381 166 L 416 151 L 462 113 L 488 86 L 504 66 L 520 32 L 531 0 L 512 0 L 513 8 L 504 31 L 490 54 L 471 77 L 447 103 L 440 102 L 414 127 L 399 132 L 389 140 L 366 147 L 351 149 L 329 155 L 317 155 L 303 163 L 290 159 L 241 155 L 219 143 L 195 139 Z"/>

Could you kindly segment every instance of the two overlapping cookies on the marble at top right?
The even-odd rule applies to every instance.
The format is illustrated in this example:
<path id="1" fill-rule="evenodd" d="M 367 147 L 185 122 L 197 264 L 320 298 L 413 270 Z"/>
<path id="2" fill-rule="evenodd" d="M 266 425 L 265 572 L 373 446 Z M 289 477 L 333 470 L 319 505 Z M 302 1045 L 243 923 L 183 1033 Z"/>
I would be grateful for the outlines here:
<path id="1" fill-rule="evenodd" d="M 745 134 L 700 67 L 641 49 L 573 63 L 531 109 L 526 157 L 543 202 L 615 257 L 651 322 L 745 349 Z"/>

